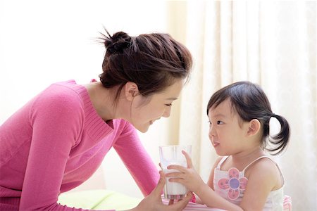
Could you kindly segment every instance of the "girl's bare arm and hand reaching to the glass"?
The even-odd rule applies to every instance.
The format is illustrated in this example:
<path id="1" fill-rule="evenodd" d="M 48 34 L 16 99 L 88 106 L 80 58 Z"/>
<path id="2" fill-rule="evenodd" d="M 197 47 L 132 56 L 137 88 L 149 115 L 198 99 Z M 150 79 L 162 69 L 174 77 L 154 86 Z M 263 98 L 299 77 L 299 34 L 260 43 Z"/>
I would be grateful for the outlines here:
<path id="1" fill-rule="evenodd" d="M 179 170 L 180 172 L 166 174 L 166 177 L 176 177 L 170 181 L 179 182 L 189 188 L 190 191 L 199 196 L 201 203 L 208 207 L 217 207 L 224 210 L 263 210 L 268 193 L 276 185 L 276 173 L 273 162 L 266 160 L 257 162 L 250 169 L 249 181 L 240 206 L 231 203 L 219 196 L 213 189 L 202 181 L 199 174 L 192 166 L 192 160 L 186 152 L 183 152 L 187 159 L 187 168 L 180 165 L 170 165 L 168 169 Z M 271 162 L 271 163 L 270 163 Z M 260 164 L 261 163 L 261 164 Z M 214 170 L 214 168 L 213 168 Z M 209 178 L 209 184 L 213 176 Z"/>

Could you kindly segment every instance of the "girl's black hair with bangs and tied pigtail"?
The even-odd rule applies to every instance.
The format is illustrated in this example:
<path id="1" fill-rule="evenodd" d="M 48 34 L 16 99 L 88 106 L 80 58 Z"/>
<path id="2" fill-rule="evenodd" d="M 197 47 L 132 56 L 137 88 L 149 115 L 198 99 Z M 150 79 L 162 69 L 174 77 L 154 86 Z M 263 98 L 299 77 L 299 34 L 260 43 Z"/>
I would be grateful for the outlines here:
<path id="1" fill-rule="evenodd" d="M 232 108 L 237 111 L 242 120 L 249 122 L 257 119 L 261 122 L 263 126 L 263 138 L 261 140 L 263 149 L 272 152 L 272 155 L 277 155 L 285 149 L 290 138 L 290 126 L 284 117 L 272 112 L 271 104 L 259 85 L 251 82 L 235 82 L 219 89 L 209 100 L 207 115 L 210 108 L 216 108 L 228 98 Z M 271 117 L 275 117 L 280 122 L 280 132 L 269 137 Z M 270 143 L 276 145 L 275 148 L 266 148 L 267 139 Z"/>

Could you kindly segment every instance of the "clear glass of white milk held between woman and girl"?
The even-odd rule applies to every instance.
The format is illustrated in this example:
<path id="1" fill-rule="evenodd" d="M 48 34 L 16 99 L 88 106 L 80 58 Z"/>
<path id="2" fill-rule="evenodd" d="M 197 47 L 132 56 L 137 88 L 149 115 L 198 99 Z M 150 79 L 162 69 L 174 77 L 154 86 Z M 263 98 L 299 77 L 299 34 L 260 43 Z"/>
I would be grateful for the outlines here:
<path id="1" fill-rule="evenodd" d="M 185 155 L 182 151 L 186 151 L 189 155 L 192 153 L 192 146 L 170 145 L 159 146 L 160 162 L 163 172 L 178 172 L 178 170 L 168 170 L 168 165 L 182 165 L 187 167 Z M 171 177 L 166 177 L 166 184 L 164 186 L 164 198 L 180 199 L 187 195 L 187 188 L 178 182 L 168 181 Z"/>

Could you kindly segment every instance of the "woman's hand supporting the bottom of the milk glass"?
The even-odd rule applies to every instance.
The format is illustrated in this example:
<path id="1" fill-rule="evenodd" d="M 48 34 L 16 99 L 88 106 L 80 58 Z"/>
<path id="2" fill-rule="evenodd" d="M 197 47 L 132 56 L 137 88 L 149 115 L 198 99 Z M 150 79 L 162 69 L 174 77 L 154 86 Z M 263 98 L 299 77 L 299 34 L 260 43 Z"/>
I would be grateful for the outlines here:
<path id="1" fill-rule="evenodd" d="M 187 196 L 183 198 L 182 200 L 178 200 L 178 202 L 174 203 L 172 200 L 168 205 L 164 205 L 161 199 L 161 193 L 164 187 L 164 184 L 166 182 L 166 177 L 165 174 L 160 171 L 160 180 L 159 183 L 157 184 L 156 188 L 147 196 L 144 198 L 137 207 L 132 209 L 133 211 L 144 211 L 144 210 L 149 210 L 149 211 L 161 211 L 161 210 L 170 210 L 170 211 L 178 211 L 178 210 L 183 210 L 189 200 L 192 198 L 192 193 L 189 192 L 187 193 Z M 131 211 L 132 211 L 131 210 Z"/>

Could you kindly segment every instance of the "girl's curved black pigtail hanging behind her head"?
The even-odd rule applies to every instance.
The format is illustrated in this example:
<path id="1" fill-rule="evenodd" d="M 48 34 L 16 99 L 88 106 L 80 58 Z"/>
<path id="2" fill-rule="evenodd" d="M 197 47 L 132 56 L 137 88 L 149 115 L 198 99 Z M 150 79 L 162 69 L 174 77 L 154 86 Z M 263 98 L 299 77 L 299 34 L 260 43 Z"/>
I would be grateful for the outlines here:
<path id="1" fill-rule="evenodd" d="M 286 148 L 290 139 L 290 124 L 288 124 L 287 120 L 280 115 L 272 114 L 271 117 L 275 117 L 278 122 L 280 122 L 280 132 L 268 139 L 268 141 L 276 145 L 276 147 L 267 150 L 274 152 L 271 155 L 278 155 Z"/>

